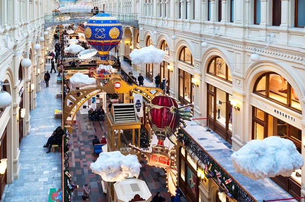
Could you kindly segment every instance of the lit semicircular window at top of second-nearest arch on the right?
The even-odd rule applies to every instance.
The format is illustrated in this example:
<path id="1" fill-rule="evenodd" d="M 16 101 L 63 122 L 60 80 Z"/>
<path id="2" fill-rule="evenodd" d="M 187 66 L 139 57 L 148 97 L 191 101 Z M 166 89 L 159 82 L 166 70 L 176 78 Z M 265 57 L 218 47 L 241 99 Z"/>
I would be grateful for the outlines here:
<path id="1" fill-rule="evenodd" d="M 232 76 L 227 63 L 223 58 L 216 56 L 209 61 L 207 73 L 232 82 Z"/>

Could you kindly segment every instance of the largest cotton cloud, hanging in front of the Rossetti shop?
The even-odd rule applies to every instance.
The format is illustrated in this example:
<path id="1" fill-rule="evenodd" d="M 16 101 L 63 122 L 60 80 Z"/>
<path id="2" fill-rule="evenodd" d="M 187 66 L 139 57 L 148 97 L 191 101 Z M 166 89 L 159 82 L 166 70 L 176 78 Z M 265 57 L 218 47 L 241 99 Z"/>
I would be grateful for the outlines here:
<path id="1" fill-rule="evenodd" d="M 237 172 L 255 180 L 278 175 L 288 177 L 304 164 L 293 142 L 277 136 L 252 140 L 231 158 Z"/>

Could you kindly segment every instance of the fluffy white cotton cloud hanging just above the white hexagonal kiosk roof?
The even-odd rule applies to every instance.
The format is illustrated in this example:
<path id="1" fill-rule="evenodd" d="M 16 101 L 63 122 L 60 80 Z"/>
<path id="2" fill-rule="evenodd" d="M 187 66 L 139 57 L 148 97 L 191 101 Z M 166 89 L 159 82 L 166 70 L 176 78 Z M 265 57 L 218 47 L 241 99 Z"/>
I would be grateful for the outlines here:
<path id="1" fill-rule="evenodd" d="M 106 182 L 120 182 L 127 177 L 138 177 L 141 164 L 136 155 L 127 156 L 119 151 L 102 152 L 96 162 L 90 164 L 90 169 Z"/>

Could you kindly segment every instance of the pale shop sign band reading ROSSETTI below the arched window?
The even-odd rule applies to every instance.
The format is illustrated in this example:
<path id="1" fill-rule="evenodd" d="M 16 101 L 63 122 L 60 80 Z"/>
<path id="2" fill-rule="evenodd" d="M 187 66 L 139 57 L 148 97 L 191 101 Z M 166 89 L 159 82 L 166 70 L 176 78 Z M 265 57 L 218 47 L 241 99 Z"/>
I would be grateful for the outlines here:
<path id="1" fill-rule="evenodd" d="M 285 107 L 277 106 L 277 104 L 273 104 L 271 101 L 267 100 L 266 103 L 258 98 L 255 98 L 253 95 L 251 96 L 251 105 L 254 107 L 274 116 L 282 121 L 285 121 L 297 128 L 301 126 L 301 118 L 297 117 L 297 113 L 293 114 L 288 111 Z"/>

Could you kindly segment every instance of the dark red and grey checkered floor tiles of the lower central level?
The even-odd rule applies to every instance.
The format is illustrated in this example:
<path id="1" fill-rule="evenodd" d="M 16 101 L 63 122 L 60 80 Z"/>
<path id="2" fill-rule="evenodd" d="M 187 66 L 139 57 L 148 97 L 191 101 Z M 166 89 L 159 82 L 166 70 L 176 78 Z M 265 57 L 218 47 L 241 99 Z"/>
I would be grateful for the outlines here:
<path id="1" fill-rule="evenodd" d="M 107 123 L 106 121 L 90 121 L 87 114 L 79 114 L 76 116 L 76 124 L 73 125 L 73 133 L 71 134 L 71 147 L 69 151 L 69 171 L 72 175 L 74 184 L 78 184 L 80 188 L 74 190 L 75 202 L 81 201 L 83 194 L 82 185 L 87 182 L 91 188 L 91 201 L 107 201 L 106 195 L 103 193 L 101 181 L 102 178 L 92 173 L 90 163 L 94 162 L 98 155 L 94 156 L 92 140 L 95 136 L 99 139 L 102 136 L 107 138 Z M 141 158 L 141 173 L 139 179 L 144 180 L 151 191 L 152 195 L 156 195 L 158 191 L 163 193 L 166 201 L 170 201 L 170 194 L 166 188 L 166 175 L 162 169 L 149 166 Z"/>

